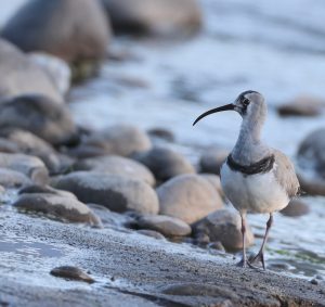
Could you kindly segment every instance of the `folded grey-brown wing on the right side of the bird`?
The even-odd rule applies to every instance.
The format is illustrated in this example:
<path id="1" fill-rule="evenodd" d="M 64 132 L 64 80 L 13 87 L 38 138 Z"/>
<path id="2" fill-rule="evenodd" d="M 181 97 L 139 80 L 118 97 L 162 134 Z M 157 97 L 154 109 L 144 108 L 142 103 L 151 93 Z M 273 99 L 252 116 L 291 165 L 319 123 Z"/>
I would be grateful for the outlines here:
<path id="1" fill-rule="evenodd" d="M 297 195 L 299 192 L 299 181 L 296 176 L 294 164 L 282 152 L 274 150 L 275 164 L 277 167 L 274 170 L 277 182 L 285 189 L 289 199 Z"/>

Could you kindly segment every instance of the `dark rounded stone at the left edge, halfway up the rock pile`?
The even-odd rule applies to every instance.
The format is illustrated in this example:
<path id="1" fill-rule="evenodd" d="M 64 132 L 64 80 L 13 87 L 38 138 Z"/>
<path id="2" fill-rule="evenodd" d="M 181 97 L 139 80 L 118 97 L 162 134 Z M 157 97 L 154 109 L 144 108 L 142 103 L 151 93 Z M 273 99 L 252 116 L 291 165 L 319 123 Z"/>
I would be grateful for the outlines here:
<path id="1" fill-rule="evenodd" d="M 43 95 L 21 95 L 0 104 L 0 127 L 28 130 L 53 145 L 78 141 L 69 110 Z"/>

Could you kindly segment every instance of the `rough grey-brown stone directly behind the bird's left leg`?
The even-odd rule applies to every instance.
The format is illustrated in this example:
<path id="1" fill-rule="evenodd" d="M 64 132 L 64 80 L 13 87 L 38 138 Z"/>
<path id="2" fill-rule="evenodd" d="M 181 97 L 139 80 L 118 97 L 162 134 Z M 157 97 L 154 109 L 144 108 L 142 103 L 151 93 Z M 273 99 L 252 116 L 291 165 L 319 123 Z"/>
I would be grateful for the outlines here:
<path id="1" fill-rule="evenodd" d="M 220 241 L 226 251 L 243 248 L 242 220 L 239 214 L 230 209 L 220 209 L 193 225 L 194 233 L 207 234 L 210 242 Z M 253 234 L 246 227 L 246 246 L 253 244 Z"/>

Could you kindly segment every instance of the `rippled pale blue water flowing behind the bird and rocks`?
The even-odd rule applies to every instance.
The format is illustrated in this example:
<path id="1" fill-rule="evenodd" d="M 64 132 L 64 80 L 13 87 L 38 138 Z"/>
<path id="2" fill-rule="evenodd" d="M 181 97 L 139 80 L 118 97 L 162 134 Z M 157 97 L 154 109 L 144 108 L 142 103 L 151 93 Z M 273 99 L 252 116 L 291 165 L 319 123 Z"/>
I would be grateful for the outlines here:
<path id="1" fill-rule="evenodd" d="M 72 91 L 76 120 L 96 129 L 120 121 L 171 129 L 178 150 L 196 163 L 203 148 L 231 149 L 240 119 L 222 114 L 195 129 L 193 119 L 210 106 L 232 102 L 243 90 L 256 89 L 269 103 L 265 141 L 295 158 L 298 143 L 324 126 L 325 115 L 284 119 L 275 107 L 298 94 L 325 99 L 324 1 L 203 0 L 202 4 L 205 25 L 193 39 L 115 39 L 112 48 L 130 52 L 132 59 L 107 61 L 98 78 Z M 268 258 L 275 270 L 324 276 L 325 199 L 306 201 L 309 215 L 275 216 Z M 266 218 L 249 216 L 256 233 L 263 234 Z"/>

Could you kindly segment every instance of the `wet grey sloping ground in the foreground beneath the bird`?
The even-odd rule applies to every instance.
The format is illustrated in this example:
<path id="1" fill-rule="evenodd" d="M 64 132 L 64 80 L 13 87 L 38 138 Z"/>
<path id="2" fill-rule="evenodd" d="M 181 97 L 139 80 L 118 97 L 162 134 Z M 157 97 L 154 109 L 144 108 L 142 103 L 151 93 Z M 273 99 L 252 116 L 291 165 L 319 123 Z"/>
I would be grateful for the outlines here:
<path id="1" fill-rule="evenodd" d="M 2 306 L 325 306 L 325 282 L 235 267 L 185 244 L 0 213 Z M 4 246 L 4 245 L 2 245 Z M 34 261 L 28 261 L 32 257 Z M 96 281 L 50 274 L 76 266 Z"/>

